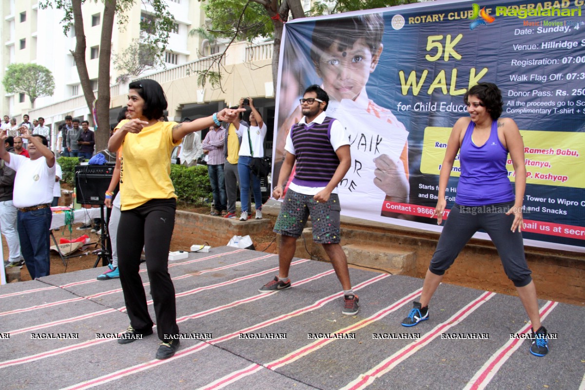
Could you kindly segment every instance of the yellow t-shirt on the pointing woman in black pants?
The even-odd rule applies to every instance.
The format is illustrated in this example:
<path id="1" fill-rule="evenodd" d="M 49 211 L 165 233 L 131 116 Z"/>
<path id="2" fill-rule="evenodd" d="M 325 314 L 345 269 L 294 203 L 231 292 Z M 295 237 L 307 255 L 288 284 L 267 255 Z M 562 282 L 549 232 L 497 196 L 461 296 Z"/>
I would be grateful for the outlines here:
<path id="1" fill-rule="evenodd" d="M 122 143 L 120 193 L 122 211 L 150 199 L 177 198 L 171 181 L 171 153 L 176 122 L 157 122 L 140 133 L 128 133 Z"/>

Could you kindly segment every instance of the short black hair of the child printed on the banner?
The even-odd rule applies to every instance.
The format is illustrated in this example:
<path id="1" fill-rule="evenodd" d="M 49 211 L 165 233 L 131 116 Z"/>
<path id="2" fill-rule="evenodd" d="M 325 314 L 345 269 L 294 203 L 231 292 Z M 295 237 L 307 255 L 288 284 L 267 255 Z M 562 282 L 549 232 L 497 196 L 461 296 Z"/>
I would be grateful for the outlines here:
<path id="1" fill-rule="evenodd" d="M 315 22 L 312 34 L 311 60 L 319 69 L 323 52 L 338 43 L 339 50 L 352 47 L 357 40 L 364 39 L 373 55 L 382 44 L 384 19 L 380 13 L 353 16 L 353 18 L 322 19 Z"/>

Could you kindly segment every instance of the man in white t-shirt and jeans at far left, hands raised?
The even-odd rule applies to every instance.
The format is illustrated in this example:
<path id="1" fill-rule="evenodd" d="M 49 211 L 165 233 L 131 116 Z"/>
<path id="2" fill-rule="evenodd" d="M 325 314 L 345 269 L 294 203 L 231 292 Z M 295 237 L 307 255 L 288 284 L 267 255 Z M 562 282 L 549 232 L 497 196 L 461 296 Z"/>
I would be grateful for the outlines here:
<path id="1" fill-rule="evenodd" d="M 36 279 L 50 273 L 50 204 L 53 201 L 56 163 L 45 137 L 32 136 L 30 130 L 22 126 L 19 130 L 23 132 L 22 138 L 29 141 L 30 158 L 6 151 L 4 140 L 8 136 L 5 130 L 0 133 L 0 158 L 7 167 L 16 171 L 12 202 L 18 208 L 20 250 L 30 277 Z"/>

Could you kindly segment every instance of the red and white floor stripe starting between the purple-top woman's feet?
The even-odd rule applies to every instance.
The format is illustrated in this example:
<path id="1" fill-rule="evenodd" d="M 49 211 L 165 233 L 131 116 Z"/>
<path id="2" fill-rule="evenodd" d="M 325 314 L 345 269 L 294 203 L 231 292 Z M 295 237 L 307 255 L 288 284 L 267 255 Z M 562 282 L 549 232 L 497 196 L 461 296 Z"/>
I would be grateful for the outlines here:
<path id="1" fill-rule="evenodd" d="M 382 375 L 387 374 L 393 370 L 393 368 L 402 363 L 402 361 L 407 360 L 407 358 L 412 356 L 415 352 L 419 351 L 422 347 L 426 346 L 426 344 L 431 343 L 432 340 L 436 339 L 436 337 L 439 337 L 441 333 L 446 332 L 446 330 L 452 328 L 463 319 L 468 317 L 494 295 L 494 292 L 484 292 L 479 296 L 479 298 L 474 299 L 474 301 L 468 303 L 448 320 L 435 326 L 431 332 L 424 334 L 421 339 L 413 341 L 412 343 L 398 350 L 392 356 L 381 361 L 376 365 L 376 367 L 371 368 L 364 374 L 360 374 L 352 382 L 349 382 L 349 384 L 343 386 L 342 390 L 357 390 L 366 388 L 374 381 L 374 379 L 380 378 Z"/>

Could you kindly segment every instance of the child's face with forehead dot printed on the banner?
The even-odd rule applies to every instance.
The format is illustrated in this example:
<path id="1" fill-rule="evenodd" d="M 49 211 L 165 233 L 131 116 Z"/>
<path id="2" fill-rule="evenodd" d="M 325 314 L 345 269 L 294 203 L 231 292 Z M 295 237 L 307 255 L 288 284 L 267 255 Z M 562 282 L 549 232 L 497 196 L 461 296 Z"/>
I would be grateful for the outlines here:
<path id="1" fill-rule="evenodd" d="M 382 46 L 371 53 L 366 40 L 360 38 L 351 47 L 339 47 L 335 42 L 321 56 L 317 73 L 329 98 L 355 100 L 376 69 Z"/>

